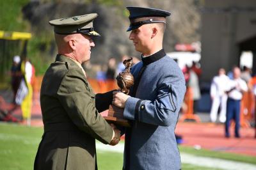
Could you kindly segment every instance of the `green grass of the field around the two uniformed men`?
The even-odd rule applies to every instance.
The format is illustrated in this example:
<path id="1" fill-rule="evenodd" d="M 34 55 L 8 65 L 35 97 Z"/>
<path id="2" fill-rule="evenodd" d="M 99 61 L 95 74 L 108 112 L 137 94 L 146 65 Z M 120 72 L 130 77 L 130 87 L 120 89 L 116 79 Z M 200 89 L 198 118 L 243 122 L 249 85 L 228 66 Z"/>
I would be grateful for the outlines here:
<path id="1" fill-rule="evenodd" d="M 43 128 L 0 123 L 0 169 L 33 169 L 33 162 L 42 133 Z M 179 148 L 182 153 L 256 164 L 255 157 L 218 151 L 195 150 L 182 146 Z M 100 170 L 122 169 L 123 154 L 97 150 L 97 161 Z M 182 169 L 209 169 L 209 167 L 182 164 Z"/>

